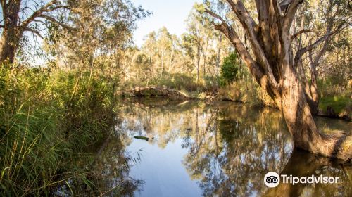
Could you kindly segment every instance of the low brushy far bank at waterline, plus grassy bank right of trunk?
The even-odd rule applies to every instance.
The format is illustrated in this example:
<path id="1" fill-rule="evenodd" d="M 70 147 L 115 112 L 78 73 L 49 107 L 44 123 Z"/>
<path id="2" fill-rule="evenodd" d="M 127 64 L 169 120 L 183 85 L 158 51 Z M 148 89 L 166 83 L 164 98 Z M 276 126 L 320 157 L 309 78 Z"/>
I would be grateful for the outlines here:
<path id="1" fill-rule="evenodd" d="M 253 90 L 246 91 L 246 94 L 239 92 L 239 90 L 233 90 L 228 87 L 219 87 L 213 89 L 211 92 L 202 92 L 196 94 L 196 92 L 184 93 L 181 90 L 172 89 L 164 86 L 146 86 L 146 87 L 134 87 L 132 89 L 120 90 L 115 93 L 117 96 L 127 99 L 141 100 L 139 98 L 146 98 L 147 100 L 153 100 L 153 98 L 167 98 L 168 100 L 199 100 L 199 101 L 233 101 L 239 103 L 248 103 L 253 106 L 267 106 L 276 108 L 275 103 L 271 101 L 271 98 L 264 92 L 261 92 L 255 98 L 249 98 L 253 95 Z M 257 89 L 260 91 L 260 89 Z M 192 95 L 192 96 L 189 96 Z M 138 102 L 138 101 L 137 101 Z M 316 114 L 322 117 L 339 118 L 343 120 L 351 121 L 352 113 L 352 100 L 341 96 L 323 97 L 320 99 L 319 113 Z"/>

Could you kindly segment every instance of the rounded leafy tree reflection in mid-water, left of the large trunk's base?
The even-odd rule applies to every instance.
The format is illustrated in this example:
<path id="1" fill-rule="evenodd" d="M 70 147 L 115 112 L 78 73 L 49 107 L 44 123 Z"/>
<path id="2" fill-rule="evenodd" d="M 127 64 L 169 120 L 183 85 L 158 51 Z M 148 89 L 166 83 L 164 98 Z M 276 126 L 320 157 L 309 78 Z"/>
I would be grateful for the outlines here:
<path id="1" fill-rule="evenodd" d="M 253 113 L 255 111 L 255 113 Z M 204 196 L 256 196 L 263 176 L 279 172 L 291 153 L 291 138 L 272 110 L 243 106 L 210 109 L 206 129 L 193 134 L 184 165 Z"/>

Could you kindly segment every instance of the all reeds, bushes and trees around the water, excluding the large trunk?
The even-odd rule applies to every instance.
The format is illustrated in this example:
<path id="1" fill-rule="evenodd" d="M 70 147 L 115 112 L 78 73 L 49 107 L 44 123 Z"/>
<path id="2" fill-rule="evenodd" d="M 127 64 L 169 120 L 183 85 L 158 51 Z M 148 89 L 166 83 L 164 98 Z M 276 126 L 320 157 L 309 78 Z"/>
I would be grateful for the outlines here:
<path id="1" fill-rule="evenodd" d="M 132 32 L 151 13 L 129 0 L 33 2 L 1 1 L 0 195 L 51 196 L 61 184 L 92 191 L 90 172 L 71 161 L 111 134 L 118 90 L 165 85 L 202 99 L 277 107 L 239 50 L 213 29 L 219 19 L 206 8 L 226 16 L 244 49 L 255 53 L 223 1 L 195 4 L 187 32 L 177 37 L 163 27 L 141 47 Z M 256 13 L 254 2 L 244 6 Z M 295 67 L 307 100 L 317 113 L 351 110 L 348 2 L 304 1 L 293 22 L 292 51 L 315 46 Z"/>

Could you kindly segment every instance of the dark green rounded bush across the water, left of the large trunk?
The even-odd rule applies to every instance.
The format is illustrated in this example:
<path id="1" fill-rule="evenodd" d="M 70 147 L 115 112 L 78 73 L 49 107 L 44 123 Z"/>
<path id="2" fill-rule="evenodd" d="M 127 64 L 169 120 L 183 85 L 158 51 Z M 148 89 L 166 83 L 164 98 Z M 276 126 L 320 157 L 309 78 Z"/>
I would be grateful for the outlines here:
<path id="1" fill-rule="evenodd" d="M 224 63 L 221 65 L 219 84 L 224 87 L 237 80 L 239 74 L 239 65 L 237 63 L 237 54 L 230 53 L 224 59 Z"/>

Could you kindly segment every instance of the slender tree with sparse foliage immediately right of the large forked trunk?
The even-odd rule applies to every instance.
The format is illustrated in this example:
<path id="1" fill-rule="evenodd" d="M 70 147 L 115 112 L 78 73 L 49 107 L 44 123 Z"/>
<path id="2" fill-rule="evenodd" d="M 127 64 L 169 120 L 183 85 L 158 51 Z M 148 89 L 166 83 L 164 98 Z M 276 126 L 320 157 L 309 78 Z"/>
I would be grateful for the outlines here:
<path id="1" fill-rule="evenodd" d="M 303 84 L 306 99 L 313 114 L 318 113 L 318 66 L 327 67 L 321 62 L 332 50 L 332 41 L 352 23 L 352 13 L 345 0 L 313 1 L 301 7 L 300 15 L 294 19 L 295 51 L 301 51 L 303 58 L 296 61 L 298 76 Z M 305 7 L 310 6 L 310 9 Z M 320 37 L 320 39 L 317 39 Z M 315 44 L 316 47 L 308 47 Z M 306 54 L 303 55 L 303 52 Z M 306 59 L 306 61 L 304 61 Z M 305 71 L 308 70 L 308 77 Z M 308 80 L 309 79 L 309 80 Z"/>

